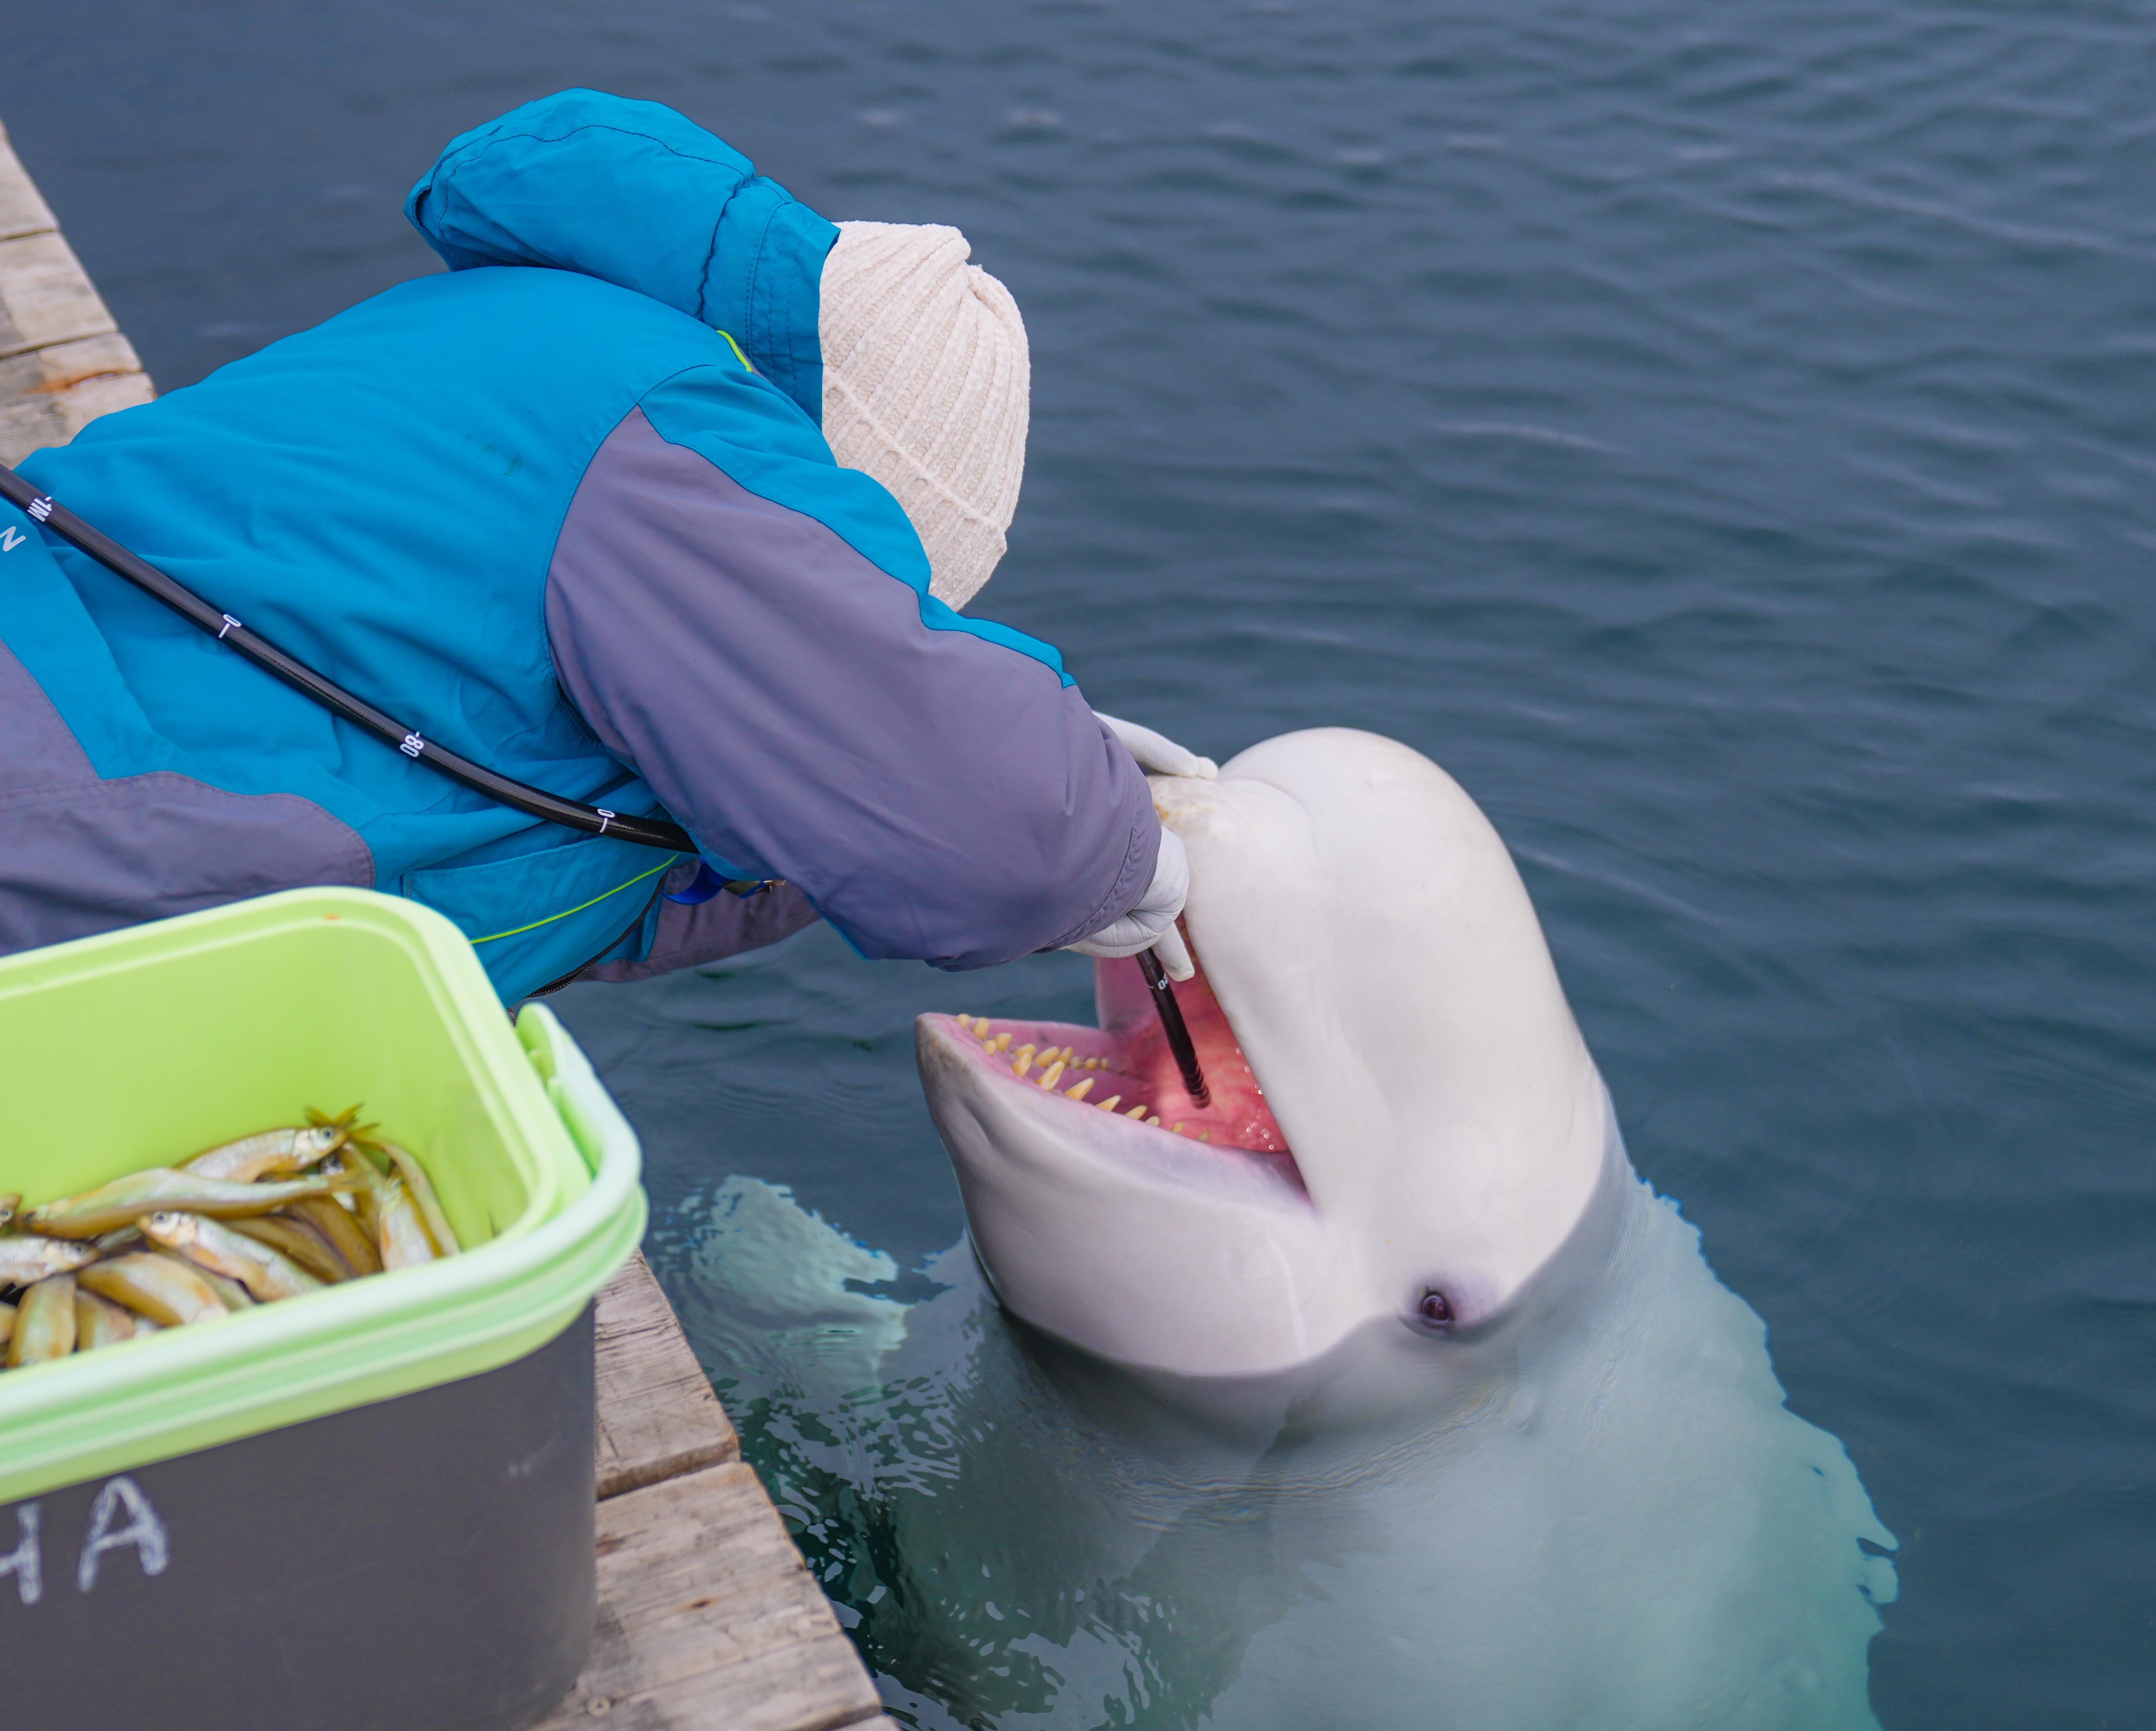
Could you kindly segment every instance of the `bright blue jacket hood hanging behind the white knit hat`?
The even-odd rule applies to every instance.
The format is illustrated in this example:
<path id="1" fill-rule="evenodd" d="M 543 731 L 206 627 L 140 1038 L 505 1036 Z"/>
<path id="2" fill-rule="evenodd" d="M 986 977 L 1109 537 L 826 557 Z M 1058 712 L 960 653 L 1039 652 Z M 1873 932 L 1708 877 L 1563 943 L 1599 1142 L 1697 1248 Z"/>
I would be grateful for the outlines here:
<path id="1" fill-rule="evenodd" d="M 451 269 L 573 269 L 688 313 L 824 423 L 839 229 L 664 103 L 561 91 L 513 108 L 451 140 L 405 218 Z"/>

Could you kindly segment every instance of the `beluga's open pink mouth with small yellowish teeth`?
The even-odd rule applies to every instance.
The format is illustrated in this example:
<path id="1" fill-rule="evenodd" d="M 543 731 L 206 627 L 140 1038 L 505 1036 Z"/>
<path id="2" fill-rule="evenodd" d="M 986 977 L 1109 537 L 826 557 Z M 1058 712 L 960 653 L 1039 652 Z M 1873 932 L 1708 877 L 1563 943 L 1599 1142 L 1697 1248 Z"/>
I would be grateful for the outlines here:
<path id="1" fill-rule="evenodd" d="M 1233 1160 L 1257 1160 L 1302 1190 L 1302 1173 L 1266 1106 L 1266 1091 L 1250 1069 L 1205 970 L 1175 987 L 1175 1002 L 1190 1028 L 1210 1102 L 1199 1106 L 1184 1089 L 1169 1037 L 1153 1011 L 1136 961 L 1095 961 L 1100 1028 L 1074 1022 L 1018 1022 L 985 1015 L 934 1015 L 964 1035 L 966 1063 L 1009 1089 L 1052 1095 L 1072 1112 L 1117 1121 L 1132 1138 L 1175 1138 L 1220 1149 Z"/>

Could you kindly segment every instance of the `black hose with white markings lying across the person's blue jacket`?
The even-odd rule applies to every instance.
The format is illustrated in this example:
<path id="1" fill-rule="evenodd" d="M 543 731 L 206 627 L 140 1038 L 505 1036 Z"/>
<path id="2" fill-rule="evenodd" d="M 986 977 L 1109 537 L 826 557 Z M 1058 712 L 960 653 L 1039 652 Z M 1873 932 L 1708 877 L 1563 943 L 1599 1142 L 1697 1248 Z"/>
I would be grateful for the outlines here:
<path id="1" fill-rule="evenodd" d="M 108 571 L 125 578 L 147 595 L 155 595 L 172 608 L 172 612 L 190 625 L 198 625 L 241 660 L 248 660 L 263 673 L 282 679 L 295 692 L 310 696 L 332 716 L 341 716 L 362 733 L 373 733 L 384 744 L 401 750 L 414 763 L 425 763 L 429 770 L 448 776 L 453 783 L 470 787 L 474 793 L 485 793 L 489 800 L 496 800 L 511 811 L 522 811 L 526 817 L 539 817 L 548 823 L 561 823 L 569 830 L 582 830 L 593 836 L 634 841 L 640 847 L 664 847 L 673 854 L 696 851 L 696 841 L 679 823 L 668 823 L 662 817 L 623 817 L 621 813 L 606 811 L 604 806 L 584 806 L 576 800 L 563 800 L 556 793 L 526 787 L 520 780 L 494 774 L 494 770 L 487 770 L 483 763 L 472 763 L 472 759 L 459 757 L 457 752 L 433 744 L 433 739 L 423 737 L 418 729 L 390 720 L 390 716 L 375 709 L 375 705 L 354 696 L 343 686 L 323 679 L 315 673 L 315 668 L 304 662 L 295 662 L 274 642 L 257 632 L 250 632 L 233 619 L 233 614 L 213 608 L 192 588 L 175 582 L 147 558 L 136 558 L 136 554 L 127 552 L 127 548 L 110 535 L 91 528 L 65 504 L 56 504 L 50 494 L 37 491 L 37 487 L 15 474 L 15 470 L 6 463 L 0 463 L 0 498 L 6 498 L 6 502 L 24 511 L 30 522 L 43 524 L 71 548 L 86 552 Z M 727 888 L 735 895 L 750 895 L 761 886 L 755 880 L 740 880 L 729 882 Z"/>

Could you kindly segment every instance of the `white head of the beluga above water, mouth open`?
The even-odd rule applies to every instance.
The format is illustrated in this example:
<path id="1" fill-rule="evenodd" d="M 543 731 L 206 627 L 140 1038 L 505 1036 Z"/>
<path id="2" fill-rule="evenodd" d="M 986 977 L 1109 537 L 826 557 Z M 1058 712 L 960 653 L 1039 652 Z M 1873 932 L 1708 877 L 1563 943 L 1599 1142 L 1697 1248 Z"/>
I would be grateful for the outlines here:
<path id="1" fill-rule="evenodd" d="M 1427 757 L 1348 729 L 1156 776 L 1153 802 L 1190 856 L 1207 1104 L 1134 961 L 1097 964 L 1097 1028 L 916 1024 L 998 1296 L 1201 1377 L 1488 1328 L 1623 1168 L 1505 843 Z"/>

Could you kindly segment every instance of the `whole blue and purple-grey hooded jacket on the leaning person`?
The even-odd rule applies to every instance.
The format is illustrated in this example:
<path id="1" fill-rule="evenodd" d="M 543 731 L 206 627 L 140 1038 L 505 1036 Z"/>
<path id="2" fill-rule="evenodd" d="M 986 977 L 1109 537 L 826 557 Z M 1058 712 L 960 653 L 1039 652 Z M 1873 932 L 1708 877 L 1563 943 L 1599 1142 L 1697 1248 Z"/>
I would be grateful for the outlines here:
<path id="1" fill-rule="evenodd" d="M 1138 899 L 1136 765 L 1054 649 L 929 595 L 817 431 L 832 224 L 591 91 L 455 140 L 407 216 L 446 276 L 22 472 L 427 737 L 789 888 L 666 901 L 694 860 L 464 791 L 0 507 L 0 951 L 367 884 L 515 1000 L 815 916 L 981 968 Z"/>

